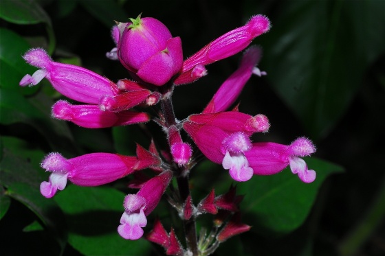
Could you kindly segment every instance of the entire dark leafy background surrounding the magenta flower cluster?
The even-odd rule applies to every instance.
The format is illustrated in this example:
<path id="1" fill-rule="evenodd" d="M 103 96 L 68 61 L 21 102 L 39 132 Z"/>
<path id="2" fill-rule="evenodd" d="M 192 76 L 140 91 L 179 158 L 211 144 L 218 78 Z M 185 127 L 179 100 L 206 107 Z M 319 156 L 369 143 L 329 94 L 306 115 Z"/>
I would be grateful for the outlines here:
<path id="1" fill-rule="evenodd" d="M 127 78 L 128 73 L 119 62 L 104 58 L 105 52 L 115 46 L 110 30 L 115 25 L 113 20 L 127 21 L 143 12 L 143 16 L 162 21 L 173 36 L 181 36 L 184 58 L 243 25 L 254 14 L 268 16 L 271 31 L 253 42 L 263 48 L 259 67 L 268 75 L 250 79 L 241 95 L 240 109 L 269 117 L 270 132 L 255 135 L 256 141 L 289 143 L 296 137 L 309 136 L 317 142 L 319 159 L 307 159 L 309 167 L 318 174 L 314 184 L 303 184 L 285 170 L 277 176 L 254 177 L 238 185 L 238 193 L 245 194 L 241 210 L 248 210 L 243 221 L 253 228 L 226 241 L 216 255 L 338 255 L 338 246 L 346 241 L 349 244 L 349 237 L 360 226 L 369 229 L 358 236 L 358 246 L 352 254 L 384 255 L 384 224 L 378 220 L 368 225 L 367 220 L 367 216 L 376 213 L 375 209 L 382 209 L 383 202 L 372 198 L 380 198 L 377 194 L 384 191 L 384 3 L 0 1 L 0 229 L 5 231 L 0 235 L 0 240 L 5 241 L 1 244 L 2 253 L 164 252 L 156 246 L 156 252 L 150 250 L 145 240 L 131 243 L 116 234 L 122 214 L 122 192 L 107 186 L 94 190 L 69 185 L 55 200 L 39 194 L 39 184 L 48 176 L 39 163 L 48 152 L 58 151 L 66 157 L 97 151 L 134 154 L 135 142 L 147 147 L 150 137 L 156 139 L 160 149 L 167 142 L 159 127 L 149 123 L 148 130 L 138 126 L 79 128 L 50 117 L 54 100 L 62 97 L 51 86 L 44 82 L 30 88 L 18 86 L 23 75 L 36 70 L 21 58 L 30 47 L 49 49 L 54 60 L 81 65 L 113 81 Z M 239 59 L 237 55 L 214 63 L 208 66 L 207 77 L 175 89 L 177 118 L 200 112 L 236 69 Z M 344 173 L 331 175 L 340 173 L 341 166 Z M 228 172 L 210 161 L 197 165 L 191 177 L 195 203 L 206 196 L 213 184 L 218 195 L 233 182 Z M 113 187 L 126 190 L 123 183 Z M 166 218 L 170 211 L 170 206 L 162 202 L 154 212 L 168 230 L 178 222 L 177 214 Z M 52 218 L 55 212 L 58 218 Z M 199 226 L 210 224 L 209 217 L 205 216 Z M 151 225 L 147 228 L 151 229 Z M 25 246 L 14 248 L 11 240 Z M 111 243 L 105 245 L 109 252 L 94 251 L 106 241 Z"/>

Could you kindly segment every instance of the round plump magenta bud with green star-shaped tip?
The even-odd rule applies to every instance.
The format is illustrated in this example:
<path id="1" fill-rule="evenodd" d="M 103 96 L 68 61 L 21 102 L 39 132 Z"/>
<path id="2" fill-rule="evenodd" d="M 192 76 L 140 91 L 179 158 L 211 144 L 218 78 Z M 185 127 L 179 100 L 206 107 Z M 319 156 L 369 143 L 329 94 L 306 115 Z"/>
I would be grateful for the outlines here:
<path id="1" fill-rule="evenodd" d="M 118 58 L 144 82 L 161 86 L 177 74 L 183 63 L 181 39 L 153 18 L 131 19 L 120 30 Z"/>

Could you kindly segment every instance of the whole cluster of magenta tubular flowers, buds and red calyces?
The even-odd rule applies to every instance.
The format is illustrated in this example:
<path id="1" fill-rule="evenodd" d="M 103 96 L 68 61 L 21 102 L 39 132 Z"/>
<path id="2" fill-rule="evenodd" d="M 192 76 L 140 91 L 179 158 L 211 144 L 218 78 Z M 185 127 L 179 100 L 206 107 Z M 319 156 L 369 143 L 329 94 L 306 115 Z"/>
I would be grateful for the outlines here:
<path id="1" fill-rule="evenodd" d="M 255 46 L 246 48 L 254 38 L 270 30 L 267 17 L 252 16 L 245 25 L 223 34 L 186 60 L 181 38 L 173 37 L 163 23 L 141 16 L 130 20 L 129 23 L 117 23 L 112 28 L 116 47 L 107 53 L 107 57 L 119 60 L 132 80 L 112 82 L 88 69 L 55 62 L 46 51 L 36 48 L 30 49 L 23 58 L 39 70 L 25 75 L 20 85 L 35 85 L 46 78 L 59 93 L 83 102 L 70 104 L 59 100 L 52 107 L 52 116 L 85 128 L 125 126 L 153 120 L 162 126 L 168 148 L 158 151 L 151 141 L 148 150 L 137 145 L 135 156 L 100 152 L 65 159 L 58 152 L 50 153 L 41 164 L 43 169 L 52 172 L 49 181 L 41 183 L 43 196 L 51 198 L 58 189 L 65 188 L 67 180 L 80 186 L 98 186 L 150 168 L 153 177 L 137 182 L 134 187 L 139 191 L 124 198 L 118 233 L 128 240 L 142 237 L 146 216 L 155 209 L 175 177 L 179 186 L 184 184 L 186 187 L 179 187 L 180 196 L 169 198 L 169 201 L 179 211 L 182 220 L 189 221 L 200 214 L 210 213 L 216 216 L 218 226 L 221 226 L 226 214 L 235 213 L 217 233 L 219 244 L 232 235 L 248 231 L 250 226 L 240 222 L 238 205 L 241 198 L 235 195 L 234 187 L 228 194 L 217 197 L 212 190 L 197 206 L 192 205 L 188 183 L 181 181 L 188 181 L 188 173 L 197 163 L 199 152 L 210 161 L 221 164 L 235 181 L 248 181 L 253 175 L 276 174 L 288 165 L 301 181 L 314 181 L 316 172 L 308 170 L 300 158 L 316 151 L 309 139 L 300 137 L 288 146 L 252 142 L 250 137 L 255 132 L 269 130 L 267 117 L 241 113 L 237 107 L 230 109 L 253 73 L 266 75 L 256 67 L 261 59 L 261 49 Z M 176 119 L 171 102 L 175 87 L 195 82 L 208 73 L 207 65 L 244 49 L 239 68 L 223 82 L 206 108 L 181 121 Z M 152 116 L 146 108 L 155 104 L 159 104 L 162 110 L 157 116 Z M 143 112 L 134 110 L 136 106 L 141 106 Z M 188 137 L 181 133 L 182 130 Z M 168 255 L 183 254 L 184 249 L 173 230 L 166 233 L 159 221 L 147 238 L 164 246 Z M 192 248 L 192 242 L 193 237 L 188 239 L 187 246 L 194 253 L 197 248 Z"/>

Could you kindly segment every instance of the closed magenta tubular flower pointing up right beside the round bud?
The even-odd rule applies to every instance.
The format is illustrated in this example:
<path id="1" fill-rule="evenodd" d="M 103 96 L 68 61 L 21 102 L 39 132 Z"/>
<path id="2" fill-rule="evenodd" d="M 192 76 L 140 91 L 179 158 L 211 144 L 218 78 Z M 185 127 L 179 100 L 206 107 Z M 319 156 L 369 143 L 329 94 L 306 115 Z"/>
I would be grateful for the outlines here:
<path id="1" fill-rule="evenodd" d="M 228 58 L 242 51 L 256 36 L 270 30 L 270 21 L 266 16 L 256 15 L 244 25 L 236 28 L 197 51 L 183 62 L 181 72 L 187 72 L 197 65 L 206 66 L 217 60 Z"/>

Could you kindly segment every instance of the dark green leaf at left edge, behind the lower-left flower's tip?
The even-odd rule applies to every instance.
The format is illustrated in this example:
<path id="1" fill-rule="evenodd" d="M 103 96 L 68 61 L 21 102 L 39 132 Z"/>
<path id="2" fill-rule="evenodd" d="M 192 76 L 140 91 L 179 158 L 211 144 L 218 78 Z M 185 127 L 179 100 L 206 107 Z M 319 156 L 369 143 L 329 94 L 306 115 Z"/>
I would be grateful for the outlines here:
<path id="1" fill-rule="evenodd" d="M 12 137 L 1 137 L 3 158 L 0 162 L 1 185 L 6 187 L 7 195 L 18 200 L 33 211 L 52 232 L 63 248 L 65 233 L 64 216 L 54 200 L 40 194 L 40 183 L 47 180 L 47 174 L 39 163 L 43 152 L 30 147 L 30 144 Z"/>

